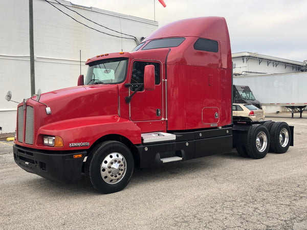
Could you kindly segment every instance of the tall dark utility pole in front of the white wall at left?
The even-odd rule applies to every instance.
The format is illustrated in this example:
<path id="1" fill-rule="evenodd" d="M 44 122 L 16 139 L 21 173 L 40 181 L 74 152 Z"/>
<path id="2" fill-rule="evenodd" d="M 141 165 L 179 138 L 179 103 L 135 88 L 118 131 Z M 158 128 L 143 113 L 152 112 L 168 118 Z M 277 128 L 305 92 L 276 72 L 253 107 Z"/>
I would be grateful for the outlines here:
<path id="1" fill-rule="evenodd" d="M 34 36 L 33 36 L 33 0 L 29 0 L 29 34 L 30 34 L 30 79 L 31 96 L 35 94 L 35 72 L 34 72 Z"/>

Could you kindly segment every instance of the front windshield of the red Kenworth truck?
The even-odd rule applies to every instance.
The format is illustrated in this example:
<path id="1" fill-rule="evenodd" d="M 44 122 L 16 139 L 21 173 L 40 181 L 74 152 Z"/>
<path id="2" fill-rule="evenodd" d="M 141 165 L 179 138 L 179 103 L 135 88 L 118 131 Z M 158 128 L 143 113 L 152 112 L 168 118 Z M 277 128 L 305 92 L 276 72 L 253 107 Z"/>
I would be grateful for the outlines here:
<path id="1" fill-rule="evenodd" d="M 117 84 L 123 82 L 126 76 L 127 61 L 127 58 L 116 58 L 94 62 L 87 69 L 84 84 Z"/>

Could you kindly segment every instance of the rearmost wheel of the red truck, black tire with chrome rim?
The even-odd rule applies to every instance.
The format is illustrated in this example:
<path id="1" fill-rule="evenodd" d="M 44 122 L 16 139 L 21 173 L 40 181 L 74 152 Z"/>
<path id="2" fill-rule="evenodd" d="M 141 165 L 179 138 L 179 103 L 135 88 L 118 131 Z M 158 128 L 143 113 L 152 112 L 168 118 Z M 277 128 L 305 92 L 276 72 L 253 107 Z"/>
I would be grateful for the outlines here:
<path id="1" fill-rule="evenodd" d="M 290 127 L 286 122 L 276 122 L 271 131 L 271 149 L 275 153 L 285 153 L 289 149 L 291 141 Z"/>

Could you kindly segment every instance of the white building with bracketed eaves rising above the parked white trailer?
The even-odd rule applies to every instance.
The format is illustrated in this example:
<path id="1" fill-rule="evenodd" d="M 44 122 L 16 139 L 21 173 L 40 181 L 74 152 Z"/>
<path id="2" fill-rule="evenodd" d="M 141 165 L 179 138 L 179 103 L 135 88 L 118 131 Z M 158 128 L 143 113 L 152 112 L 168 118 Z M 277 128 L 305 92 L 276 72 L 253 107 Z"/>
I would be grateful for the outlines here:
<path id="1" fill-rule="evenodd" d="M 240 52 L 232 54 L 233 75 L 297 73 L 306 69 L 306 63 L 268 55 Z"/>

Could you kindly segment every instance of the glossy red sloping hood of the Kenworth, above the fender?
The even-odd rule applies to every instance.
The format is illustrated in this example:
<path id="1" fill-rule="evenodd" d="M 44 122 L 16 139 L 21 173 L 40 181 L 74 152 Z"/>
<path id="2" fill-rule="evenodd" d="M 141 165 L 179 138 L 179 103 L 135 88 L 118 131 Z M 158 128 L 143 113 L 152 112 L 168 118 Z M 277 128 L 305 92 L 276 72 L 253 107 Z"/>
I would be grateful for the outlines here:
<path id="1" fill-rule="evenodd" d="M 27 105 L 34 107 L 35 114 L 39 113 L 36 116 L 40 119 L 39 126 L 82 117 L 118 115 L 117 85 L 76 86 L 42 94 L 39 102 L 47 104 L 51 114 L 46 113 L 45 105 L 34 100 L 29 99 Z"/>

